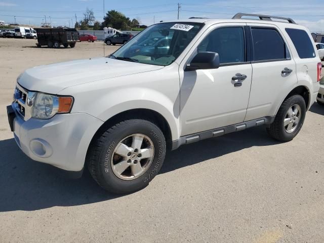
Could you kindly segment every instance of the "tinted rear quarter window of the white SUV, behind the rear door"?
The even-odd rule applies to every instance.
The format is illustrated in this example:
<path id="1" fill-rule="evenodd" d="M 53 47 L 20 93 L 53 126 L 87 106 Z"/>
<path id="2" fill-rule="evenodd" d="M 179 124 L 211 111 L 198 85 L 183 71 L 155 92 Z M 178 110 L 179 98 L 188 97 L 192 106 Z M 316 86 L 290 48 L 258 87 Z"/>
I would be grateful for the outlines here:
<path id="1" fill-rule="evenodd" d="M 316 56 L 313 43 L 305 30 L 286 28 L 286 32 L 291 38 L 300 58 L 314 58 Z"/>

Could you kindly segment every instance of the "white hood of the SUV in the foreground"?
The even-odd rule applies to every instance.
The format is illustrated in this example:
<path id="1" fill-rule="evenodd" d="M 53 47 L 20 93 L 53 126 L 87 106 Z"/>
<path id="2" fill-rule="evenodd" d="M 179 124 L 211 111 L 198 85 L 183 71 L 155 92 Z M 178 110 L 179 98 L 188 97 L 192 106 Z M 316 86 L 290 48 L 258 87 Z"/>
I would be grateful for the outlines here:
<path id="1" fill-rule="evenodd" d="M 22 73 L 18 83 L 30 91 L 57 94 L 71 86 L 160 68 L 163 66 L 100 57 L 33 67 Z"/>

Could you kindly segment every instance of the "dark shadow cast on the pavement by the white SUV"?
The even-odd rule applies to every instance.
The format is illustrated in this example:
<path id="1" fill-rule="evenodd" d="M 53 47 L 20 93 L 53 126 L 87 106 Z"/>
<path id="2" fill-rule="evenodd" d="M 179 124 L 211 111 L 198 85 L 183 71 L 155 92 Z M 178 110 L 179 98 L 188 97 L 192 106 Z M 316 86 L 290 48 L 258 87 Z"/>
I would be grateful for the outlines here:
<path id="1" fill-rule="evenodd" d="M 167 152 L 160 174 L 251 146 L 276 143 L 267 136 L 265 127 L 258 127 L 185 145 Z M 80 179 L 60 176 L 56 168 L 23 154 L 14 139 L 0 141 L 0 154 L 0 212 L 84 205 L 122 196 L 104 191 L 87 169 Z"/>

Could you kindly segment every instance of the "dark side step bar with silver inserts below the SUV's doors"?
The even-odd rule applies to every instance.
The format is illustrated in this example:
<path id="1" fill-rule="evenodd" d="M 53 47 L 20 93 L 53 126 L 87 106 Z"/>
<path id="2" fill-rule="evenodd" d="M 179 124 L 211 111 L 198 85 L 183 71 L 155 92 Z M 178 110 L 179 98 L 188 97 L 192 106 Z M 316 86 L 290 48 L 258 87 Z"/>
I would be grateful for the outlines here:
<path id="1" fill-rule="evenodd" d="M 213 130 L 208 130 L 201 133 L 186 135 L 172 142 L 172 150 L 179 148 L 181 145 L 197 142 L 203 139 L 219 137 L 227 133 L 238 132 L 241 130 L 245 130 L 247 128 L 253 128 L 261 125 L 271 124 L 273 123 L 274 117 L 275 116 L 266 116 L 255 120 L 245 121 L 244 123 L 230 125 L 227 127 L 217 128 Z"/>

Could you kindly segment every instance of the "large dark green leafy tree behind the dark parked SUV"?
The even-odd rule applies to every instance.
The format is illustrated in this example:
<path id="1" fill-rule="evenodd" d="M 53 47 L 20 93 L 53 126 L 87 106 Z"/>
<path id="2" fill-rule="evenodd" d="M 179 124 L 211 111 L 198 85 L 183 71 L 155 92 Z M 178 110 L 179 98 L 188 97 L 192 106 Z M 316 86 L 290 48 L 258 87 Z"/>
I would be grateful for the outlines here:
<path id="1" fill-rule="evenodd" d="M 132 25 L 130 18 L 115 10 L 108 11 L 103 19 L 102 28 L 112 27 L 115 29 L 130 30 Z"/>

